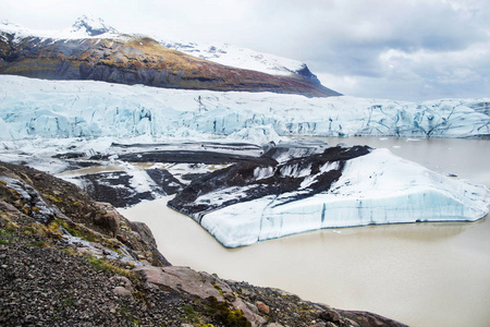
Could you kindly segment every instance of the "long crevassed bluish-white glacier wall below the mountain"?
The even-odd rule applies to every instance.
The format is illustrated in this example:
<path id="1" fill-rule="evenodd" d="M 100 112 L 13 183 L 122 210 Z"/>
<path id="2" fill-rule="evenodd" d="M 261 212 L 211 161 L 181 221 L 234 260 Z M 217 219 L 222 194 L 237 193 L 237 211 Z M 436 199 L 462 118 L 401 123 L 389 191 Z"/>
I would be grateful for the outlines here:
<path id="1" fill-rule="evenodd" d="M 0 140 L 147 135 L 467 137 L 490 134 L 490 98 L 402 102 L 182 90 L 0 75 Z"/>

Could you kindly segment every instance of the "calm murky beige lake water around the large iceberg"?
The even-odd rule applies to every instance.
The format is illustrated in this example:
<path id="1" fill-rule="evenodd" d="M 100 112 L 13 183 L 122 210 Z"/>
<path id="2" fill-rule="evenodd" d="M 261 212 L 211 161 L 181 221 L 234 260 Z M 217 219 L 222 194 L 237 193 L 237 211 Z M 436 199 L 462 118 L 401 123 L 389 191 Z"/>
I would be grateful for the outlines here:
<path id="1" fill-rule="evenodd" d="M 324 138 L 367 144 L 444 174 L 490 186 L 490 141 Z M 121 210 L 146 222 L 173 265 L 277 287 L 334 307 L 371 311 L 411 326 L 490 326 L 490 222 L 329 229 L 222 247 L 169 198 Z"/>

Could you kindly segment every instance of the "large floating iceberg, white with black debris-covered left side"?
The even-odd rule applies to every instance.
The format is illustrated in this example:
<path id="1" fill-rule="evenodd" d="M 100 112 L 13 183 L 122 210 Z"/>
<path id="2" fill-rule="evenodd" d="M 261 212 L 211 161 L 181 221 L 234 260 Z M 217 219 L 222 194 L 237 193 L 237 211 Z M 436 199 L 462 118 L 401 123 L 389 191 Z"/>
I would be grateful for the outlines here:
<path id="1" fill-rule="evenodd" d="M 320 164 L 322 155 L 316 154 L 220 170 L 192 182 L 169 206 L 226 247 L 324 228 L 475 221 L 489 211 L 483 185 L 444 177 L 388 149 L 329 150 L 334 156 Z"/>

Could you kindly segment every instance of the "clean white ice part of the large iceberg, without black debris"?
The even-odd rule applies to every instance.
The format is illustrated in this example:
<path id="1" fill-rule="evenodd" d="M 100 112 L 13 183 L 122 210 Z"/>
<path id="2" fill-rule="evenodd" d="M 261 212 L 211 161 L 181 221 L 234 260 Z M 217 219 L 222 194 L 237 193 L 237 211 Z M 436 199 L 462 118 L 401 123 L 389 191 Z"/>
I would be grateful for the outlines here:
<path id="1" fill-rule="evenodd" d="M 204 215 L 200 223 L 224 246 L 237 247 L 323 228 L 474 221 L 488 214 L 489 205 L 490 191 L 483 185 L 375 149 L 348 160 L 327 192 L 293 202 L 269 195 L 238 203 Z"/>

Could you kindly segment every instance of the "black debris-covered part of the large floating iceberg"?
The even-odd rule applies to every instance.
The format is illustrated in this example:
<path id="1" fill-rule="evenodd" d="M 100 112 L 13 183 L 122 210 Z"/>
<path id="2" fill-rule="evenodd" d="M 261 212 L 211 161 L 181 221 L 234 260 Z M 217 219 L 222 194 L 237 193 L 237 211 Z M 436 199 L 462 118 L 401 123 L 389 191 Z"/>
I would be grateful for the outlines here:
<path id="1" fill-rule="evenodd" d="M 240 202 L 268 195 L 291 194 L 278 204 L 282 205 L 328 191 L 330 185 L 342 175 L 346 160 L 367 155 L 370 152 L 368 146 L 334 146 L 326 148 L 320 154 L 304 155 L 307 149 L 301 152 L 301 157 L 294 157 L 294 150 L 297 149 L 272 147 L 255 160 L 238 162 L 194 180 L 168 205 L 197 222 L 200 222 L 207 213 Z M 293 158 L 284 162 L 275 160 L 283 157 L 284 154 L 287 155 L 289 150 L 293 150 L 291 154 Z M 322 171 L 322 167 L 334 162 L 336 164 L 334 169 Z M 305 179 L 311 177 L 315 180 L 309 182 L 307 187 L 302 187 Z M 208 195 L 209 197 L 215 192 L 226 192 L 226 190 L 230 190 L 230 196 L 223 201 L 217 199 L 207 203 L 197 201 L 200 196 Z M 236 195 L 233 196 L 233 194 Z"/>

